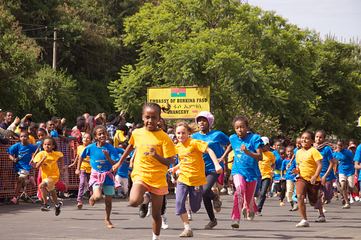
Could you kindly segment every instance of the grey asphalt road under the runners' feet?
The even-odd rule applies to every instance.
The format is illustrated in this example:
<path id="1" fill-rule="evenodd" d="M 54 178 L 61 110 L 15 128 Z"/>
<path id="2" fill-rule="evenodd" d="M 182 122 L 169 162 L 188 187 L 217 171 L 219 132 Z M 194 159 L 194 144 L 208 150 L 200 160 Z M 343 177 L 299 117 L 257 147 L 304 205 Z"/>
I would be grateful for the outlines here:
<path id="1" fill-rule="evenodd" d="M 343 210 L 340 200 L 333 199 L 325 205 L 325 223 L 316 223 L 317 210 L 307 205 L 309 228 L 296 228 L 301 220 L 299 212 L 289 212 L 279 207 L 277 198 L 267 198 L 262 217 L 253 221 L 241 220 L 240 229 L 232 229 L 231 212 L 233 196 L 222 195 L 223 206 L 216 213 L 218 226 L 205 230 L 209 222 L 203 205 L 194 213 L 191 227 L 193 239 L 361 239 L 361 202 Z M 183 224 L 174 215 L 175 196 L 167 196 L 167 217 L 170 228 L 162 230 L 161 239 L 179 239 Z M 104 200 L 89 206 L 84 200 L 82 210 L 77 210 L 75 199 L 64 200 L 61 214 L 41 212 L 40 205 L 21 203 L 0 206 L 0 239 L 152 239 L 152 219 L 138 217 L 138 208 L 130 207 L 125 200 L 113 199 L 111 221 L 115 228 L 107 229 L 104 223 Z M 50 206 L 54 208 L 54 203 Z"/>

